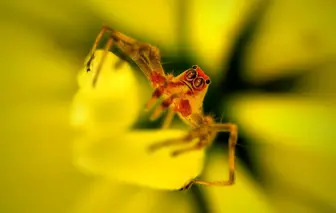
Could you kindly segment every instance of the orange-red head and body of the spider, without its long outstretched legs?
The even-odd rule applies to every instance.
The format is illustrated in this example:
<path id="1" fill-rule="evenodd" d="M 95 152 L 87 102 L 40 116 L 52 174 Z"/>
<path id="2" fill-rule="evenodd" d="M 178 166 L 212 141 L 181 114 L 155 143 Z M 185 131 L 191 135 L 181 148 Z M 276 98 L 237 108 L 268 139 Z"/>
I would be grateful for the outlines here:
<path id="1" fill-rule="evenodd" d="M 176 112 L 189 125 L 197 127 L 201 124 L 195 115 L 203 114 L 203 99 L 208 90 L 210 79 L 200 67 L 194 65 L 177 77 L 164 76 L 154 72 L 151 76 L 151 82 L 156 89 L 152 99 L 147 104 L 147 108 L 158 97 L 162 96 L 164 99 L 161 107 L 153 113 L 152 119 L 157 118 L 165 108 L 171 107 L 171 110 Z"/>

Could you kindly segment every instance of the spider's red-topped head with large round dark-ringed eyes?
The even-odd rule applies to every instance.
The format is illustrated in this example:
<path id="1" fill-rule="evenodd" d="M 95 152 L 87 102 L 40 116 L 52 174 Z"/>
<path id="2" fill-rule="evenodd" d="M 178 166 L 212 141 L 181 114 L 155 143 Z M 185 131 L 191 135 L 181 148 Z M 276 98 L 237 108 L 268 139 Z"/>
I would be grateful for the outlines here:
<path id="1" fill-rule="evenodd" d="M 207 76 L 203 70 L 194 65 L 192 68 L 187 69 L 182 73 L 181 80 L 192 90 L 192 91 L 206 91 L 210 84 L 210 78 Z"/>

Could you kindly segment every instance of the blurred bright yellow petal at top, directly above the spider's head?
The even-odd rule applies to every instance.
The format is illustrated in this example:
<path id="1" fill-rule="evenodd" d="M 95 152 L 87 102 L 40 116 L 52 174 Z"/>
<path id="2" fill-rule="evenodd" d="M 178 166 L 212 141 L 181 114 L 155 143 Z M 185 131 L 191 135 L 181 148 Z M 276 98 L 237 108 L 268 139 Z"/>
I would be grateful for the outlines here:
<path id="1" fill-rule="evenodd" d="M 233 44 L 256 1 L 193 1 L 188 12 L 191 50 L 199 62 L 211 70 L 222 69 Z M 189 26 L 189 25 L 188 25 Z M 196 62 L 195 62 L 196 63 Z"/>

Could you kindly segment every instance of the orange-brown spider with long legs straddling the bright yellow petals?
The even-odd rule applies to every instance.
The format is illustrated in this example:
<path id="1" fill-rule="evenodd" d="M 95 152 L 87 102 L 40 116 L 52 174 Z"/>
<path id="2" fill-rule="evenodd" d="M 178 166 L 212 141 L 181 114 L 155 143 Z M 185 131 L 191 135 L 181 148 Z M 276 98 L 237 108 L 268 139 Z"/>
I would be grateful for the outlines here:
<path id="1" fill-rule="evenodd" d="M 165 110 L 168 110 L 166 118 L 163 122 L 163 128 L 167 128 L 174 115 L 177 114 L 183 121 L 191 126 L 190 132 L 178 139 L 167 140 L 164 142 L 153 144 L 149 147 L 151 151 L 182 143 L 188 143 L 193 139 L 197 142 L 195 145 L 176 150 L 171 153 L 176 157 L 180 154 L 193 150 L 200 150 L 208 147 L 214 141 L 218 132 L 229 132 L 229 177 L 225 181 L 203 181 L 198 179 L 190 180 L 181 190 L 188 189 L 192 184 L 227 186 L 234 184 L 235 181 L 235 145 L 237 143 L 237 126 L 233 123 L 216 123 L 210 115 L 203 113 L 203 100 L 210 85 L 210 78 L 203 70 L 194 65 L 185 70 L 178 76 L 166 74 L 161 65 L 161 56 L 158 48 L 137 41 L 129 36 L 126 36 L 118 31 L 111 29 L 108 26 L 103 26 L 93 47 L 90 51 L 90 57 L 86 64 L 87 71 L 91 70 L 91 63 L 95 57 L 95 50 L 102 40 L 104 34 L 108 34 L 108 40 L 105 44 L 104 53 L 98 68 L 93 77 L 92 86 L 95 87 L 98 81 L 98 76 L 108 51 L 112 47 L 117 48 L 123 55 L 133 61 L 139 69 L 145 74 L 150 81 L 154 92 L 151 99 L 146 104 L 146 109 L 149 110 L 162 98 L 163 101 L 154 109 L 151 119 L 158 118 Z"/>

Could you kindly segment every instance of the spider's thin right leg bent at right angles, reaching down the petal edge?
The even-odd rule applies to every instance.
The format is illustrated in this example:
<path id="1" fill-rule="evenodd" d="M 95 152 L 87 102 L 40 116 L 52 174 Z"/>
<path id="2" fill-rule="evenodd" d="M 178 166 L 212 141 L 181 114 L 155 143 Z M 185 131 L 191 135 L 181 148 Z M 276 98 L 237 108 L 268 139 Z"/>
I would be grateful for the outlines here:
<path id="1" fill-rule="evenodd" d="M 208 186 L 229 186 L 234 184 L 235 181 L 235 146 L 237 143 L 238 129 L 235 124 L 213 124 L 210 126 L 215 132 L 229 132 L 229 178 L 225 181 L 203 181 L 203 180 L 191 180 L 186 187 L 182 190 L 189 188 L 192 184 L 202 184 Z"/>

